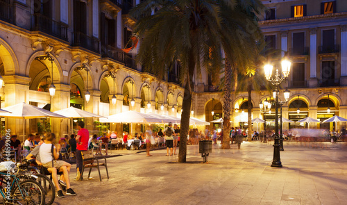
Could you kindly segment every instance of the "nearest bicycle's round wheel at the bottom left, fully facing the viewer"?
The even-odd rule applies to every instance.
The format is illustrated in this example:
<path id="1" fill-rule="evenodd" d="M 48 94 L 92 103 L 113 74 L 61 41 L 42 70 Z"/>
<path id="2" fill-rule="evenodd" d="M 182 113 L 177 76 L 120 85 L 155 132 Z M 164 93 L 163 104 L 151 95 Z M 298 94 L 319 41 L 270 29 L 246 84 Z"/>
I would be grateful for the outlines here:
<path id="1" fill-rule="evenodd" d="M 17 204 L 44 205 L 44 190 L 39 183 L 31 179 L 22 181 L 11 192 L 11 198 Z"/>

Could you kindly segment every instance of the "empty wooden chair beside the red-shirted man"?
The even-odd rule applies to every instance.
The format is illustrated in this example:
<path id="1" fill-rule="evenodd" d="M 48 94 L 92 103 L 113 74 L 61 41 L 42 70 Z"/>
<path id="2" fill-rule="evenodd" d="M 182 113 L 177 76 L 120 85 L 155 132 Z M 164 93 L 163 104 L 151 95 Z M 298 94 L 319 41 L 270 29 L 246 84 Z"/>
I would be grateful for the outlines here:
<path id="1" fill-rule="evenodd" d="M 82 159 L 83 159 L 83 168 L 81 172 L 81 177 L 83 177 L 83 172 L 85 168 L 90 168 L 89 173 L 88 173 L 88 178 L 90 177 L 90 172 L 92 172 L 92 168 L 98 168 L 99 172 L 99 178 L 101 181 L 101 174 L 100 174 L 100 166 L 104 166 L 106 169 L 106 173 L 108 174 L 108 164 L 106 162 L 106 158 L 104 156 L 99 156 L 98 158 L 93 156 L 92 150 L 87 150 L 87 151 L 81 151 L 82 154 Z M 99 159 L 104 159 L 105 163 L 99 163 Z M 94 163 L 96 161 L 96 164 Z M 108 177 L 109 179 L 109 177 Z"/>

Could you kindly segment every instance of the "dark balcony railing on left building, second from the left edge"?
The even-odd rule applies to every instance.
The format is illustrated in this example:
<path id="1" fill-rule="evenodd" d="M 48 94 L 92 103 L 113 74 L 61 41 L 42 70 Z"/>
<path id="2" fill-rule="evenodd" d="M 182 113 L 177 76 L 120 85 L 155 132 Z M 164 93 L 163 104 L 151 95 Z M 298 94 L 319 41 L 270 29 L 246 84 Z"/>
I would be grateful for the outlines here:
<path id="1" fill-rule="evenodd" d="M 53 19 L 46 17 L 40 13 L 35 13 L 32 18 L 31 31 L 42 31 L 56 38 L 67 41 L 66 24 L 56 22 Z"/>

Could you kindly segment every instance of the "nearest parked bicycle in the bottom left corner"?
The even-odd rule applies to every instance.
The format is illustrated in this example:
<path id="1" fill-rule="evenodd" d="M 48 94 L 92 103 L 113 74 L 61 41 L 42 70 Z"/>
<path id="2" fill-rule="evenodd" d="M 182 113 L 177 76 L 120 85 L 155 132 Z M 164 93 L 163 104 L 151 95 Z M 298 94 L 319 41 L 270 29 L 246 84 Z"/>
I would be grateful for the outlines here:
<path id="1" fill-rule="evenodd" d="M 12 164 L 14 165 L 14 163 Z M 15 169 L 17 172 L 15 172 Z M 17 163 L 16 167 L 8 167 L 8 170 L 0 171 L 0 183 L 6 186 L 1 186 L 0 195 L 3 197 L 3 204 L 39 204 L 44 205 L 44 190 L 42 186 L 32 179 L 21 181 L 19 173 L 22 170 L 22 164 Z M 36 178 L 31 174 L 31 177 Z"/>

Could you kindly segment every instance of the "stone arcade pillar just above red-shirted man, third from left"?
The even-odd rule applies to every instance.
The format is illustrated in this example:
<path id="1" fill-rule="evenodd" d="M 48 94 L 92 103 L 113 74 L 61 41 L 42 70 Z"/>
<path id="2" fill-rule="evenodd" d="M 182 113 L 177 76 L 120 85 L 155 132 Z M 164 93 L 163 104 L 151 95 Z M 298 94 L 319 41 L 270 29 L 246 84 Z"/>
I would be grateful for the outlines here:
<path id="1" fill-rule="evenodd" d="M 89 90 L 90 92 L 90 101 L 85 101 L 85 110 L 90 113 L 99 114 L 99 103 L 100 103 L 100 90 Z M 98 133 L 97 129 L 94 129 L 94 120 L 97 118 L 87 117 L 85 118 L 85 129 L 88 129 L 90 135 Z"/>

